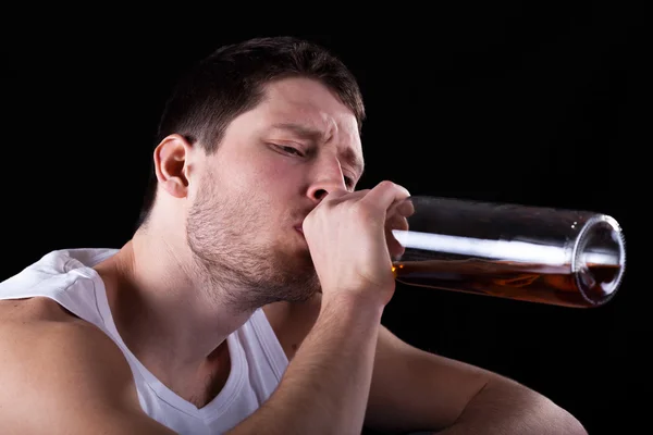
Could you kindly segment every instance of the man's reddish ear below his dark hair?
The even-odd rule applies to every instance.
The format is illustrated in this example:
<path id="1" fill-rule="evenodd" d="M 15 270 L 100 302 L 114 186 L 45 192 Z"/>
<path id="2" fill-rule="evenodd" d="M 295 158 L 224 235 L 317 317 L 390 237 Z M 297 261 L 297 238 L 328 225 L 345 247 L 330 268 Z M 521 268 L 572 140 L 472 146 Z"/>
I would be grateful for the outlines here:
<path id="1" fill-rule="evenodd" d="M 181 135 L 165 137 L 155 149 L 155 171 L 160 186 L 175 198 L 188 192 L 188 156 L 192 145 Z"/>

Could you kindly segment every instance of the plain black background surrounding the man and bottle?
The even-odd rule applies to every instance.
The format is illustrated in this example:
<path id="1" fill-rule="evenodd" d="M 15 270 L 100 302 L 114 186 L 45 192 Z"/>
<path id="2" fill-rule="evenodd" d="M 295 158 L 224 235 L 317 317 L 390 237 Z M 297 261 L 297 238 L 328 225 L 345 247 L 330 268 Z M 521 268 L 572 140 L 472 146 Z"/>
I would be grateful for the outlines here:
<path id="1" fill-rule="evenodd" d="M 330 48 L 360 80 L 369 116 L 360 187 L 387 178 L 412 195 L 594 210 L 619 221 L 628 268 L 605 307 L 399 285 L 383 322 L 410 344 L 545 394 L 590 434 L 639 433 L 653 386 L 648 271 L 637 254 L 650 240 L 643 9 L 527 4 L 360 15 L 321 3 L 270 13 L 8 13 L 0 278 L 52 249 L 122 246 L 178 73 L 224 42 L 300 36 Z"/>

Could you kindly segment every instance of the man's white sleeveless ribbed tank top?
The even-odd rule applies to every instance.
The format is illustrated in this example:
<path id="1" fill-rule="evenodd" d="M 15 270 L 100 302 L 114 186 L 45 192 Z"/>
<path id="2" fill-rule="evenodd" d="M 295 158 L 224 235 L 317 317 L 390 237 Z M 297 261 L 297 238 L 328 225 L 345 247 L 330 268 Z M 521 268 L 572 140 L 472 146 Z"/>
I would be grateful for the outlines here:
<path id="1" fill-rule="evenodd" d="M 261 309 L 227 339 L 231 372 L 224 388 L 197 409 L 155 377 L 125 346 L 109 309 L 104 284 L 91 269 L 115 249 L 50 252 L 0 283 L 0 299 L 45 296 L 103 331 L 124 353 L 144 411 L 178 434 L 222 434 L 270 397 L 288 360 Z M 100 430 L 100 428 L 98 428 Z"/>

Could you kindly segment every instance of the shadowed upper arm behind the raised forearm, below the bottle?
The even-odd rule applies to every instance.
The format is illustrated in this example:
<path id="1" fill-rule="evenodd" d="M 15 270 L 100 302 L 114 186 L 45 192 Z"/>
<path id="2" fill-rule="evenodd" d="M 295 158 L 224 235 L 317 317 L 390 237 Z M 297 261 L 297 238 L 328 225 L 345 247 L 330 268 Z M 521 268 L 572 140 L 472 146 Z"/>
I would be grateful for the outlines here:
<path id="1" fill-rule="evenodd" d="M 493 376 L 417 349 L 381 326 L 366 425 L 397 432 L 446 427 Z"/>

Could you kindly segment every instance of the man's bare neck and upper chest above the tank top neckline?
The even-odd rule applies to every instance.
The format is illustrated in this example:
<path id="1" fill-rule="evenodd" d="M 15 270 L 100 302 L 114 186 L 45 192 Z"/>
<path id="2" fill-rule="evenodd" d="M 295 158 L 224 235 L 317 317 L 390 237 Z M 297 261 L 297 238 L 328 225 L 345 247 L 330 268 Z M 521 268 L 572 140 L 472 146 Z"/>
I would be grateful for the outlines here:
<path id="1" fill-rule="evenodd" d="M 139 231 L 95 269 L 121 337 L 144 365 L 162 381 L 204 376 L 251 311 L 222 301 L 184 240 L 160 234 L 173 233 Z"/>

